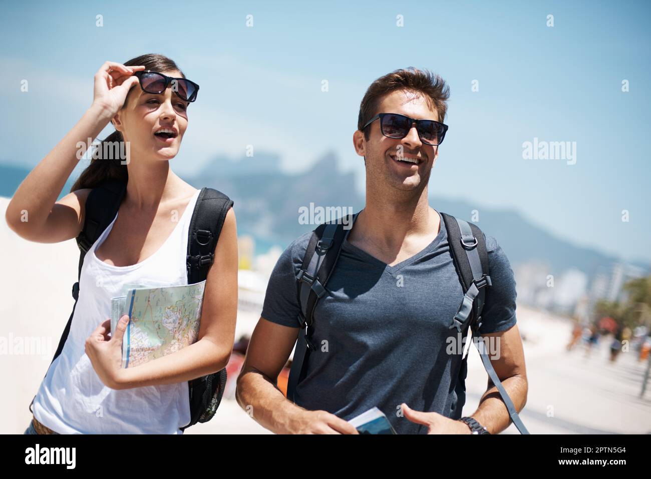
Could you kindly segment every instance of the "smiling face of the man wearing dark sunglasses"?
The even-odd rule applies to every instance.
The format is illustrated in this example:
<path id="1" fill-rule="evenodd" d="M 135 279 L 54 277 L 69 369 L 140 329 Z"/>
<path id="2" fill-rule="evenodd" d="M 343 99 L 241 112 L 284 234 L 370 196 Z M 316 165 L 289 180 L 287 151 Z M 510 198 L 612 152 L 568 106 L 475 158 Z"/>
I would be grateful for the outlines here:
<path id="1" fill-rule="evenodd" d="M 400 113 L 416 120 L 439 121 L 438 113 L 430 109 L 421 94 L 407 90 L 396 90 L 385 96 L 376 113 Z M 368 140 L 359 130 L 353 137 L 357 154 L 366 158 L 367 183 L 402 191 L 422 189 L 428 183 L 438 146 L 422 143 L 415 124 L 402 139 L 385 137 L 379 118 L 367 129 Z M 415 159 L 416 163 L 401 159 Z"/>

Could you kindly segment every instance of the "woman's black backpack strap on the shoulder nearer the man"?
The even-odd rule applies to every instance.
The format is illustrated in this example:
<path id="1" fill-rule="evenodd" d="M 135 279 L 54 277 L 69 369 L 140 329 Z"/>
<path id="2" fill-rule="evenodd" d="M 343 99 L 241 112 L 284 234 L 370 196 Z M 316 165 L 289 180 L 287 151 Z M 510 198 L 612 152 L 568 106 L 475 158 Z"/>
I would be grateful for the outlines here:
<path id="1" fill-rule="evenodd" d="M 217 239 L 233 200 L 212 188 L 202 188 L 187 232 L 187 284 L 206 279 L 215 258 Z"/>

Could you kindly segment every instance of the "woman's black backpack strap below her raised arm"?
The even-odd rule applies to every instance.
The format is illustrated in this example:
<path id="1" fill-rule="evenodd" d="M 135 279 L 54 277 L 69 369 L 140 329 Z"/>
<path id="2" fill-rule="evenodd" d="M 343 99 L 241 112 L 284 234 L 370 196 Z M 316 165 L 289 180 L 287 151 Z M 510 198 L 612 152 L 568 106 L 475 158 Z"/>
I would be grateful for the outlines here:
<path id="1" fill-rule="evenodd" d="M 81 267 L 83 266 L 83 260 L 90 247 L 95 243 L 95 241 L 97 241 L 98 238 L 100 238 L 100 236 L 102 236 L 104 230 L 115 218 L 115 215 L 120 208 L 120 203 L 122 203 L 124 193 L 126 193 L 126 182 L 119 180 L 108 180 L 107 182 L 94 187 L 86 198 L 83 228 L 76 238 L 77 246 L 79 247 L 79 265 L 77 267 L 77 282 L 72 285 L 72 297 L 74 298 L 75 303 L 72 307 L 70 318 L 68 318 L 66 327 L 64 327 L 61 338 L 59 339 L 59 346 L 57 346 L 57 350 L 52 357 L 52 361 L 49 363 L 50 366 L 61 354 L 63 346 L 66 344 L 66 340 L 68 339 L 68 334 L 70 334 L 72 316 L 75 314 L 77 299 L 79 299 L 79 279 L 81 279 Z M 46 376 L 48 376 L 47 371 Z M 34 400 L 32 400 L 31 404 L 29 404 L 29 411 L 31 412 L 33 412 L 33 404 Z"/>

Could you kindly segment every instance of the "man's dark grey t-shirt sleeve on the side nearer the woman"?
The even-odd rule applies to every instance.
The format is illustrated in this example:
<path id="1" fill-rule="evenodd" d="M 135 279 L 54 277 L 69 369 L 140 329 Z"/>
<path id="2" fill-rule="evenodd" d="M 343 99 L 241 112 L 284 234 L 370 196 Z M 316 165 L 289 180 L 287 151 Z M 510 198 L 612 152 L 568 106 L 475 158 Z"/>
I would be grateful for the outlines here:
<path id="1" fill-rule="evenodd" d="M 262 305 L 262 318 L 283 326 L 299 327 L 296 275 L 312 232 L 304 234 L 289 245 L 273 267 Z"/>

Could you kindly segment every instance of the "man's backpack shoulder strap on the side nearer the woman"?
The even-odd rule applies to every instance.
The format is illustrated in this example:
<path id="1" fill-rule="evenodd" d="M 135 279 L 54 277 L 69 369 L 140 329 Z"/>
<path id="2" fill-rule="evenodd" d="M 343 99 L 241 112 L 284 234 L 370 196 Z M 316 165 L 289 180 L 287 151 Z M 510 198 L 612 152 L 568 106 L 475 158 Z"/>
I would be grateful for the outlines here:
<path id="1" fill-rule="evenodd" d="M 303 264 L 296 277 L 298 300 L 301 306 L 298 316 L 300 330 L 287 381 L 287 398 L 292 402 L 294 402 L 296 387 L 305 376 L 307 357 L 310 351 L 316 349 L 311 340 L 314 330 L 312 327 L 314 308 L 316 308 L 318 300 L 326 294 L 326 284 L 335 270 L 337 260 L 339 260 L 344 238 L 352 229 L 358 214 L 355 213 L 346 222 L 339 218 L 317 226 L 312 232 L 305 256 L 303 256 Z M 344 224 L 350 225 L 350 228 L 344 229 Z"/>

